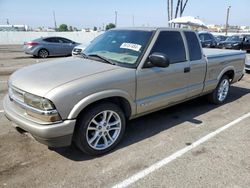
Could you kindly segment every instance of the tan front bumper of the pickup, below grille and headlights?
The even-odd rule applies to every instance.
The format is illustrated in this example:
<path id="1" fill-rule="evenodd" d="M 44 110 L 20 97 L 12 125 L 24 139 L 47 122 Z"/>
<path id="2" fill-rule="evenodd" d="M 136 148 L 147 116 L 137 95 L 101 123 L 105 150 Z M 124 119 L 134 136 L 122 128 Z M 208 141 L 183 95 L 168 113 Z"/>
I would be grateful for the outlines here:
<path id="1" fill-rule="evenodd" d="M 71 144 L 76 120 L 64 120 L 49 125 L 39 124 L 20 116 L 12 103 L 9 97 L 5 96 L 4 113 L 13 122 L 14 127 L 30 133 L 37 141 L 47 146 L 62 147 Z"/>

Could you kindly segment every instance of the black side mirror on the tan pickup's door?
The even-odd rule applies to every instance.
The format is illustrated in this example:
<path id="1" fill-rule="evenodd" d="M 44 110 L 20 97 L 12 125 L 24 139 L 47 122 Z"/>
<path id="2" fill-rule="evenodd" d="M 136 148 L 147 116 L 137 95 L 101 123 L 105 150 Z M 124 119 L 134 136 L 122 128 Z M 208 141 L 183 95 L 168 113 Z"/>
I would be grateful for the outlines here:
<path id="1" fill-rule="evenodd" d="M 168 67 L 170 60 L 167 55 L 163 53 L 152 53 L 149 57 L 150 63 L 155 67 Z"/>

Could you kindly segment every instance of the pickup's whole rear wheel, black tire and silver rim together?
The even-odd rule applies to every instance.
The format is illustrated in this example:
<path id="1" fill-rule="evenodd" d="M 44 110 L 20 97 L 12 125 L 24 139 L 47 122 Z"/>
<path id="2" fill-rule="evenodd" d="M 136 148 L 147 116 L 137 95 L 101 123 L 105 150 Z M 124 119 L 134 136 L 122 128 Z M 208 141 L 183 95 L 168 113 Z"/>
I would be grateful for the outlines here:
<path id="1" fill-rule="evenodd" d="M 230 89 L 230 81 L 227 75 L 224 75 L 215 90 L 208 95 L 208 100 L 213 104 L 222 104 L 225 102 Z"/>

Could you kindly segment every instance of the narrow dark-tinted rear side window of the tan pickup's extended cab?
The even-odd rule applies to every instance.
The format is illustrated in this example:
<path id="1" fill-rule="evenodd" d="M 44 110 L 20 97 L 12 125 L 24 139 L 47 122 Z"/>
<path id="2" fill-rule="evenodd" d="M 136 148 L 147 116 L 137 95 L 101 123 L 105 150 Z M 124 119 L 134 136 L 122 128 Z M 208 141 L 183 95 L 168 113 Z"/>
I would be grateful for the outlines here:
<path id="1" fill-rule="evenodd" d="M 185 31 L 184 34 L 187 39 L 190 61 L 200 60 L 202 57 L 201 47 L 196 34 L 188 31 Z"/>

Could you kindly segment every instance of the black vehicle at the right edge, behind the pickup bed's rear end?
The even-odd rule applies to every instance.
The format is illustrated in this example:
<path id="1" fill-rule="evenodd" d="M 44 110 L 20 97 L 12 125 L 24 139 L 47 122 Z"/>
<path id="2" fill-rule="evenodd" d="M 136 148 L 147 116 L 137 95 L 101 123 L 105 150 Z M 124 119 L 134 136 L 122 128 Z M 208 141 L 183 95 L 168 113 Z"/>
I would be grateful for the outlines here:
<path id="1" fill-rule="evenodd" d="M 223 42 L 219 42 L 218 48 L 250 51 L 250 35 L 232 35 Z"/>

